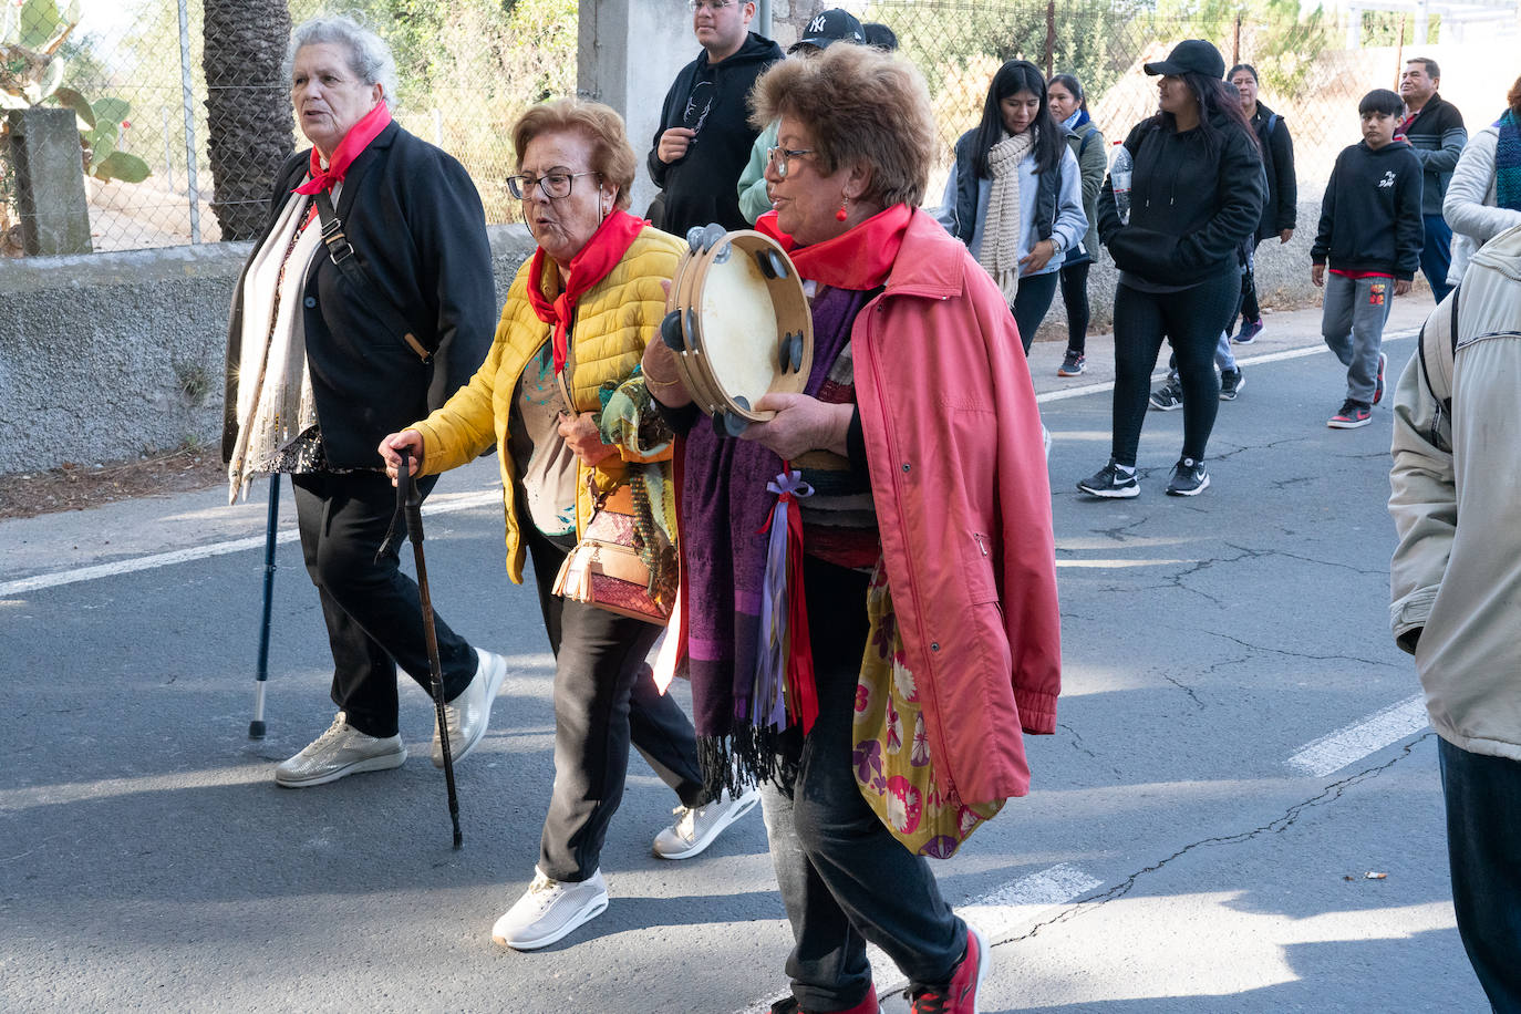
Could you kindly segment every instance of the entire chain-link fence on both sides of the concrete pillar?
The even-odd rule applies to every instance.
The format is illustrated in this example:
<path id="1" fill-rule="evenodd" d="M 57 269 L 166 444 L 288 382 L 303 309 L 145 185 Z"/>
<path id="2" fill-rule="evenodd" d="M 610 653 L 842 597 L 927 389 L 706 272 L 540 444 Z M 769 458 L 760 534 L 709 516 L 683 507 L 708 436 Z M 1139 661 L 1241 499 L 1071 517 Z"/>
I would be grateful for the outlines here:
<path id="1" fill-rule="evenodd" d="M 304 146 L 283 61 L 291 23 L 319 9 L 318 0 L 0 0 L 0 102 L 75 112 L 88 249 L 251 236 L 280 160 Z M 576 0 L 347 0 L 345 9 L 397 56 L 397 120 L 464 163 L 490 222 L 517 220 L 503 182 L 506 128 L 532 102 L 573 93 Z M 931 202 L 993 71 L 1016 56 L 1075 74 L 1115 141 L 1156 108 L 1156 79 L 1142 64 L 1183 38 L 1211 40 L 1227 64 L 1258 68 L 1262 102 L 1293 132 L 1307 201 L 1358 140 L 1358 99 L 1395 87 L 1404 58 L 1446 64 L 1443 96 L 1475 129 L 1503 108 L 1516 73 L 1513 59 L 1475 59 L 1472 47 L 1411 46 L 1407 15 L 1364 12 L 1349 26 L 1320 12 L 1300 18 L 1297 3 L 1282 0 L 1252 11 L 1170 17 L 1150 0 L 873 0 L 859 9 L 897 33 L 929 81 L 945 141 Z M 1363 46 L 1349 47 L 1349 35 Z M 9 140 L 0 137 L 0 252 L 20 255 L 26 202 Z"/>

